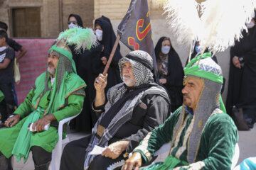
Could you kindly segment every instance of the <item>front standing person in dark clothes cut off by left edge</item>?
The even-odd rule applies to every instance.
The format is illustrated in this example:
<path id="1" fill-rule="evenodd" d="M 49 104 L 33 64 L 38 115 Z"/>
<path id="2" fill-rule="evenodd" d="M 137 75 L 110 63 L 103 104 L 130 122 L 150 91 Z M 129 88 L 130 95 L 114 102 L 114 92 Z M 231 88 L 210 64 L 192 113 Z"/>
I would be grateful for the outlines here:
<path id="1" fill-rule="evenodd" d="M 0 128 L 4 127 L 6 119 L 16 109 L 11 86 L 14 80 L 15 53 L 14 49 L 7 45 L 7 40 L 7 33 L 4 30 L 0 30 L 0 91 L 4 94 L 4 100 L 0 102 Z"/>

